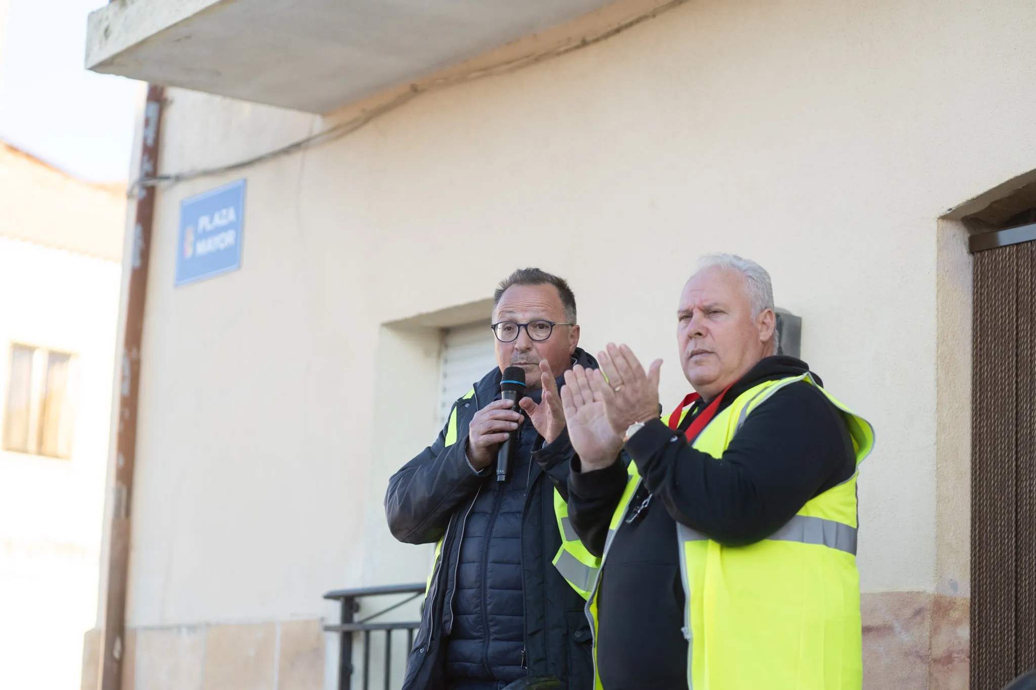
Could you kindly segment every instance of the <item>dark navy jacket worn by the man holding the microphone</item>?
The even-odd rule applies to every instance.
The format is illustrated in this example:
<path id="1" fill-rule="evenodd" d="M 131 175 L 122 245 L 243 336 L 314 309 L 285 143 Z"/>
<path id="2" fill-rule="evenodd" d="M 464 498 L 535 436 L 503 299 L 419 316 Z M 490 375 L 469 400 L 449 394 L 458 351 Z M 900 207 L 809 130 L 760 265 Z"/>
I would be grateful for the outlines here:
<path id="1" fill-rule="evenodd" d="M 597 366 L 594 358 L 579 349 L 576 350 L 574 361 L 583 366 Z M 400 541 L 413 544 L 433 543 L 442 539 L 442 556 L 433 572 L 431 588 L 422 613 L 421 629 L 410 651 L 403 682 L 404 690 L 444 689 L 448 672 L 447 652 L 451 651 L 451 648 L 453 648 L 451 654 L 453 658 L 449 663 L 451 676 L 464 672 L 464 667 L 458 666 L 457 662 L 476 661 L 472 657 L 474 648 L 468 644 L 471 640 L 462 641 L 459 651 L 456 648 L 459 640 L 484 632 L 479 625 L 474 625 L 477 621 L 473 619 L 461 620 L 461 617 L 470 616 L 471 608 L 468 604 L 472 603 L 470 588 L 465 589 L 462 584 L 465 581 L 469 584 L 477 582 L 486 572 L 462 575 L 458 564 L 478 563 L 471 553 L 465 553 L 463 558 L 461 556 L 462 545 L 472 543 L 468 539 L 467 530 L 478 531 L 480 522 L 486 529 L 491 529 L 491 519 L 477 516 L 472 521 L 471 517 L 472 514 L 479 514 L 477 503 L 480 501 L 479 497 L 486 491 L 487 496 L 496 500 L 490 503 L 489 499 L 481 499 L 485 503 L 480 504 L 480 512 L 484 513 L 485 506 L 489 504 L 491 510 L 497 512 L 497 519 L 499 513 L 514 515 L 505 518 L 506 521 L 520 517 L 520 524 L 517 526 L 518 568 L 517 570 L 496 568 L 495 574 L 496 584 L 499 586 L 496 588 L 496 594 L 507 599 L 512 596 L 508 590 L 511 589 L 510 581 L 513 575 L 520 573 L 520 583 L 524 589 L 520 599 L 524 608 L 520 623 L 524 639 L 520 647 L 524 651 L 525 669 L 522 670 L 520 665 L 518 669 L 513 668 L 514 660 L 510 658 L 513 656 L 512 652 L 519 652 L 519 664 L 522 662 L 522 655 L 517 640 L 508 639 L 513 635 L 506 631 L 495 636 L 499 643 L 492 649 L 483 650 L 483 654 L 480 655 L 481 661 L 488 660 L 488 670 L 491 674 L 497 674 L 497 678 L 500 673 L 508 678 L 517 671 L 522 674 L 527 672 L 530 676 L 556 676 L 562 681 L 562 687 L 571 690 L 588 690 L 593 687 L 591 634 L 583 616 L 585 602 L 569 587 L 552 565 L 554 554 L 560 546 L 553 509 L 554 487 L 562 487 L 563 494 L 568 494 L 567 458 L 571 457 L 572 451 L 567 434 L 563 433 L 549 449 L 534 453 L 533 458 L 526 461 L 525 453 L 531 448 L 539 448 L 542 439 L 536 436 L 535 429 L 523 429 L 521 445 L 525 447 L 525 453 L 519 454 L 517 458 L 519 467 L 515 468 L 513 475 L 517 477 L 521 473 L 523 476 L 517 481 L 513 480 L 512 484 L 515 486 L 510 487 L 510 490 L 505 488 L 499 494 L 494 493 L 500 490 L 494 486 L 495 477 L 476 475 L 464 455 L 467 427 L 471 417 L 476 411 L 499 397 L 499 381 L 500 372 L 494 369 L 474 385 L 473 393 L 469 394 L 469 397 L 463 397 L 455 402 L 457 413 L 455 443 L 445 445 L 450 427 L 448 423 L 431 446 L 407 462 L 388 481 L 385 514 L 393 535 Z M 524 494 L 520 497 L 522 504 L 520 515 L 518 512 L 512 513 L 515 509 L 513 504 L 515 497 L 512 494 L 518 484 L 524 487 L 520 491 Z M 498 528 L 506 527 L 509 526 L 498 526 Z M 511 530 L 497 529 L 494 535 L 508 539 L 513 548 L 516 545 L 513 536 L 505 536 L 503 532 L 510 535 Z M 499 545 L 493 544 L 493 546 Z M 506 545 L 502 549 L 497 548 L 495 552 L 502 554 L 498 560 L 508 560 L 507 551 Z M 492 552 L 480 554 L 491 556 Z M 483 563 L 488 565 L 488 560 L 484 560 Z M 462 565 L 462 568 L 466 567 L 468 566 Z M 509 570 L 512 571 L 508 572 Z M 492 571 L 490 577 L 484 581 L 493 583 Z M 489 594 L 491 589 L 483 591 Z M 484 607 L 478 612 L 487 617 L 490 613 L 496 616 L 514 607 L 514 604 L 513 599 L 490 601 L 488 606 L 482 603 L 481 606 Z M 496 623 L 500 621 L 497 620 Z M 510 623 L 513 625 L 515 622 Z M 505 628 L 510 627 L 505 623 Z M 490 637 L 484 637 L 484 640 L 488 639 Z M 451 641 L 454 642 L 453 646 L 449 644 Z M 465 644 L 468 646 L 466 650 L 463 649 Z M 512 647 L 514 649 L 511 649 Z M 478 668 L 469 670 L 471 674 L 479 673 Z"/>

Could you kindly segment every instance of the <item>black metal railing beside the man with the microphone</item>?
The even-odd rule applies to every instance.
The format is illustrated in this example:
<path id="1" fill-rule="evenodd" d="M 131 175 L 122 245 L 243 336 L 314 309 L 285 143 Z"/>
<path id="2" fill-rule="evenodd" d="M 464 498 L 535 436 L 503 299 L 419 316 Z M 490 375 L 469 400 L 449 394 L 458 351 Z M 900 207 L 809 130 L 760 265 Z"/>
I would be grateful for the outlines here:
<path id="1" fill-rule="evenodd" d="M 372 613 L 363 620 L 354 621 L 355 614 L 359 611 L 359 599 L 365 597 L 381 597 L 387 595 L 409 594 L 410 596 L 402 601 L 396 602 L 392 606 Z M 392 637 L 396 630 L 406 630 L 406 653 L 409 654 L 413 647 L 413 633 L 421 626 L 420 621 L 401 622 L 379 622 L 371 623 L 383 613 L 399 608 L 425 594 L 425 583 L 416 584 L 390 584 L 387 587 L 364 587 L 355 590 L 334 590 L 324 595 L 324 599 L 334 599 L 342 603 L 342 618 L 337 625 L 324 626 L 327 632 L 337 632 L 340 635 L 338 648 L 338 688 L 339 690 L 351 690 L 352 671 L 355 664 L 352 663 L 352 639 L 353 635 L 364 634 L 364 685 L 363 690 L 370 690 L 371 683 L 371 633 L 384 631 L 384 690 L 392 690 L 390 679 L 392 678 Z"/>

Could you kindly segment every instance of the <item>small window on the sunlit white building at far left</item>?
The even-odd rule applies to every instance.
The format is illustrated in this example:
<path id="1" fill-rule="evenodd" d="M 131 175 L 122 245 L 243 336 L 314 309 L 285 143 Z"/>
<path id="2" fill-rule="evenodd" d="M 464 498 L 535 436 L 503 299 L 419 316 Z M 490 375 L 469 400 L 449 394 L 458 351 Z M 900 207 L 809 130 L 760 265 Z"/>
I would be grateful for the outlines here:
<path id="1" fill-rule="evenodd" d="M 11 346 L 3 420 L 4 450 L 69 457 L 75 392 L 73 355 Z"/>

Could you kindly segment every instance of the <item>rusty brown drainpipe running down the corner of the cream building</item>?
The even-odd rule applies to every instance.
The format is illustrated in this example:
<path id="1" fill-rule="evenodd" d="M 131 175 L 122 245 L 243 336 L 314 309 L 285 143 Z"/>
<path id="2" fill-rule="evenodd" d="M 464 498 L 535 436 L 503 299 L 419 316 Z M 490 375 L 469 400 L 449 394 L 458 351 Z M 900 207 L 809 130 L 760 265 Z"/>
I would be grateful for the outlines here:
<path id="1" fill-rule="evenodd" d="M 155 174 L 159 164 L 159 128 L 165 87 L 149 84 L 144 107 L 144 130 L 140 151 L 140 178 Z M 144 333 L 144 297 L 154 218 L 155 188 L 140 185 L 130 257 L 130 294 L 123 314 L 119 386 L 119 431 L 115 456 L 115 492 L 108 554 L 108 591 L 105 600 L 105 639 L 100 648 L 99 690 L 121 690 L 125 652 L 126 584 L 130 568 L 133 471 L 137 458 L 137 401 L 140 392 L 140 348 Z"/>

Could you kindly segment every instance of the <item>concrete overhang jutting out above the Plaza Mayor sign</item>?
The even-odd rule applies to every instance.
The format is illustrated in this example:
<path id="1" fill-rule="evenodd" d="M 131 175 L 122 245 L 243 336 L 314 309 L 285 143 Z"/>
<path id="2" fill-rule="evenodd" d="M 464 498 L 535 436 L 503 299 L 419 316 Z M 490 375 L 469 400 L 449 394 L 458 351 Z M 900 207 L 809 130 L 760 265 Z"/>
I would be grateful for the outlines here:
<path id="1" fill-rule="evenodd" d="M 329 113 L 612 0 L 115 0 L 86 66 Z"/>

